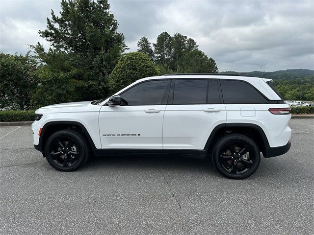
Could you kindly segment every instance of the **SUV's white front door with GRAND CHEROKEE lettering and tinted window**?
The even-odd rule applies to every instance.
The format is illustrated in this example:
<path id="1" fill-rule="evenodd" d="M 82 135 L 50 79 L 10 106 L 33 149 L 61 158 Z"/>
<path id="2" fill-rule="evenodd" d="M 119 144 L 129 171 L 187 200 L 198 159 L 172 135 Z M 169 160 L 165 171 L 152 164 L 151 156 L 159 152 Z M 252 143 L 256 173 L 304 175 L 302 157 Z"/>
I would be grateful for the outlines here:
<path id="1" fill-rule="evenodd" d="M 168 80 L 135 84 L 119 94 L 125 105 L 102 106 L 99 130 L 103 149 L 162 149 L 162 120 Z"/>

